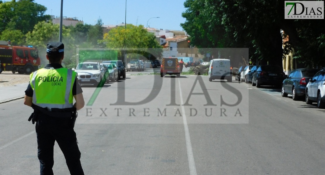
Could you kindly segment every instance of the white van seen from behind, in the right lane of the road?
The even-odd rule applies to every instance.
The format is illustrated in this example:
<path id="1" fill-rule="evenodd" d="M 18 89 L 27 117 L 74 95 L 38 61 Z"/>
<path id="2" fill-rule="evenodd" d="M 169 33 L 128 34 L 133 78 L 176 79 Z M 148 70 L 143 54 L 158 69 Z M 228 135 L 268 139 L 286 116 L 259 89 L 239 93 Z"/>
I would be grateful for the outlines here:
<path id="1" fill-rule="evenodd" d="M 210 61 L 209 81 L 214 79 L 232 82 L 232 67 L 228 59 L 213 59 Z"/>

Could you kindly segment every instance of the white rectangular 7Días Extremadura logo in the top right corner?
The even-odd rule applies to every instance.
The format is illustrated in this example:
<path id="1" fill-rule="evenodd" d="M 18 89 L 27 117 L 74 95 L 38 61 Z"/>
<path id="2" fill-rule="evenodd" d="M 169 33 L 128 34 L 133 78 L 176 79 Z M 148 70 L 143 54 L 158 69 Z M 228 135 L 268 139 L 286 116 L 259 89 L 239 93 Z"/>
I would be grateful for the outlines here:
<path id="1" fill-rule="evenodd" d="M 324 1 L 284 1 L 284 19 L 324 19 Z"/>

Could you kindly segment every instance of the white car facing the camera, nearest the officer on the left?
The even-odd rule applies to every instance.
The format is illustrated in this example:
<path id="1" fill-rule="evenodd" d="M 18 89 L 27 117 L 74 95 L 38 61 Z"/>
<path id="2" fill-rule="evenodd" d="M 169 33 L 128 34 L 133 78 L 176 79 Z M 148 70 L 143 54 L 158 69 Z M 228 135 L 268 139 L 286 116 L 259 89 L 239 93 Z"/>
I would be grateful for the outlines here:
<path id="1" fill-rule="evenodd" d="M 94 84 L 96 86 L 106 80 L 105 71 L 105 68 L 101 68 L 98 62 L 82 62 L 75 69 L 80 84 Z"/>

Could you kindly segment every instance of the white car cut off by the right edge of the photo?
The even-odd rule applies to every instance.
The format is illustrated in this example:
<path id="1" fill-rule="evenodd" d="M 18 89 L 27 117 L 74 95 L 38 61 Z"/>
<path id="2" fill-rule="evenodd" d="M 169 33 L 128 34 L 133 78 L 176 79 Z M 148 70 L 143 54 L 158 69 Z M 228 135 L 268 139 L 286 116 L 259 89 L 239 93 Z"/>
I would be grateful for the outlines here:
<path id="1" fill-rule="evenodd" d="M 306 104 L 317 102 L 318 108 L 325 108 L 325 69 L 318 71 L 306 85 Z"/>

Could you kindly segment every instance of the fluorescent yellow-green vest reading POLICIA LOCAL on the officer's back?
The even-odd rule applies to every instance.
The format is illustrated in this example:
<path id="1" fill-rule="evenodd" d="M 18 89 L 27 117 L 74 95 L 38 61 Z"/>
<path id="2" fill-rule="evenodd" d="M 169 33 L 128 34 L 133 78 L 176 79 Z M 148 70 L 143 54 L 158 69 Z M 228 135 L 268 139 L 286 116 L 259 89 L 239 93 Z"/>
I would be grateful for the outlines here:
<path id="1" fill-rule="evenodd" d="M 30 75 L 33 104 L 48 108 L 71 108 L 76 73 L 71 69 L 40 69 Z"/>

